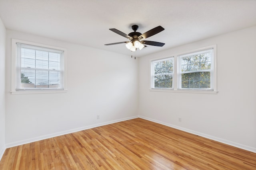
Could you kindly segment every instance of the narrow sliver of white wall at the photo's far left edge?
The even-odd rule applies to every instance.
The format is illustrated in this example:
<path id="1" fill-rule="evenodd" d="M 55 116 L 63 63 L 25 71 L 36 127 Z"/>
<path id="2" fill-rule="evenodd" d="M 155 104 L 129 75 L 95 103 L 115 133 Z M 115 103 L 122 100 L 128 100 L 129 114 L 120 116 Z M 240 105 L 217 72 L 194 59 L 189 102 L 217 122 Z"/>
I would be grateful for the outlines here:
<path id="1" fill-rule="evenodd" d="M 5 35 L 6 29 L 0 18 L 0 160 L 5 150 Z"/>

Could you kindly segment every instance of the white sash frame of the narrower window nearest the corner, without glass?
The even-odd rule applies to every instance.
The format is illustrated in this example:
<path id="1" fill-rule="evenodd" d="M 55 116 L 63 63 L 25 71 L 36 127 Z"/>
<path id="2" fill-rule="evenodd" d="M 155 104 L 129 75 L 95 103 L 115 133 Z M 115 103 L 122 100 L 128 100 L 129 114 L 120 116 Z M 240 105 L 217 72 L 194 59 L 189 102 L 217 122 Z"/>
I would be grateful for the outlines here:
<path id="1" fill-rule="evenodd" d="M 168 74 L 154 74 L 154 63 L 159 63 L 162 61 L 168 61 L 168 60 L 172 60 L 173 63 L 173 72 L 172 73 L 168 73 Z M 168 57 L 168 58 L 164 58 L 164 59 L 159 59 L 159 60 L 154 60 L 151 62 L 151 88 L 153 89 L 173 89 L 173 81 L 172 81 L 172 88 L 156 88 L 155 87 L 155 81 L 154 81 L 154 76 L 157 75 L 171 75 L 172 76 L 172 80 L 173 80 L 173 76 L 174 76 L 174 57 Z"/>

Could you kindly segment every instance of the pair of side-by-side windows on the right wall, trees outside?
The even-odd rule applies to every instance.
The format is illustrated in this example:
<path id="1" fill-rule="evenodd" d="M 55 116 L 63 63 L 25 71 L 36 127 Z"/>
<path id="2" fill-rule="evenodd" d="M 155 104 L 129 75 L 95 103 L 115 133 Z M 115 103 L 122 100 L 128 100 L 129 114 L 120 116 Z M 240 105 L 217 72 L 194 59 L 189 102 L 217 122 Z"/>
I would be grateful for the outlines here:
<path id="1" fill-rule="evenodd" d="M 216 45 L 151 60 L 153 91 L 216 93 L 216 85 Z"/>

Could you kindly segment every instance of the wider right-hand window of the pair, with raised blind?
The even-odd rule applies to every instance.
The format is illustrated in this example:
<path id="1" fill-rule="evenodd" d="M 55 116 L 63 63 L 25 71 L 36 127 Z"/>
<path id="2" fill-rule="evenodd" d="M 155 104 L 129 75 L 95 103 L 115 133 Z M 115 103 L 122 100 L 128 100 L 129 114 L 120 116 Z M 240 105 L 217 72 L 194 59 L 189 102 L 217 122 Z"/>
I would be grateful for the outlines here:
<path id="1" fill-rule="evenodd" d="M 179 89 L 213 90 L 213 49 L 179 56 Z"/>

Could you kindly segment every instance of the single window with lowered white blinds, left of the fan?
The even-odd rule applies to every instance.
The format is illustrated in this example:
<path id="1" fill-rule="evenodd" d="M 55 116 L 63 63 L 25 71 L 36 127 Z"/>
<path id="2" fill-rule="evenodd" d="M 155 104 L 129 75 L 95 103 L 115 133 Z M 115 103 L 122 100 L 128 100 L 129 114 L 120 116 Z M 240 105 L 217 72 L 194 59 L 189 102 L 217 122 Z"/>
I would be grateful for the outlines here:
<path id="1" fill-rule="evenodd" d="M 15 39 L 12 43 L 16 49 L 16 53 L 13 51 L 16 80 L 12 92 L 64 90 L 65 49 Z"/>

